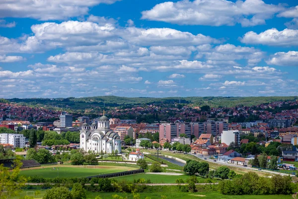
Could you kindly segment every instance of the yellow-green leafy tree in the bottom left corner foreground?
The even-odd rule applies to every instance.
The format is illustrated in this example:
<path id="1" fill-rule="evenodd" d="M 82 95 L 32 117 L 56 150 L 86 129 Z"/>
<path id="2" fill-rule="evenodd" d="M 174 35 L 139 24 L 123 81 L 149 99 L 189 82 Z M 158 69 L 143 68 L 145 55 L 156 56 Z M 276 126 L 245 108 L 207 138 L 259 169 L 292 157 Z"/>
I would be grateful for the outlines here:
<path id="1" fill-rule="evenodd" d="M 19 194 L 20 189 L 25 185 L 26 178 L 19 176 L 22 163 L 20 158 L 13 162 L 13 169 L 0 165 L 0 199 L 10 199 Z M 15 181 L 17 179 L 17 181 Z"/>

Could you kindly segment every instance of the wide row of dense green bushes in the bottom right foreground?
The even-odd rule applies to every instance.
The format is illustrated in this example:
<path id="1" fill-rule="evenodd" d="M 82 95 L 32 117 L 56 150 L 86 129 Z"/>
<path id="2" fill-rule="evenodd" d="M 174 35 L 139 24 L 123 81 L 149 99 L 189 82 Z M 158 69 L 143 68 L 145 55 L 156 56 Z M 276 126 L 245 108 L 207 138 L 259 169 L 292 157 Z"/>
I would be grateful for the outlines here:
<path id="1" fill-rule="evenodd" d="M 219 189 L 224 195 L 289 195 L 295 187 L 291 181 L 290 176 L 274 175 L 265 178 L 248 172 L 233 181 L 221 181 Z"/>

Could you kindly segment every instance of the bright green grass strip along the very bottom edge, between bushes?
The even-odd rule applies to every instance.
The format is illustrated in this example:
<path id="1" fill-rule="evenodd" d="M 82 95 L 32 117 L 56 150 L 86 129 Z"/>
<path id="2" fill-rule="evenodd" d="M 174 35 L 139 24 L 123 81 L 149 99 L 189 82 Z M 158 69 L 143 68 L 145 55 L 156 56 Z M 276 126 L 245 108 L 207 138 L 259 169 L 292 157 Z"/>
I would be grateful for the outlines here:
<path id="1" fill-rule="evenodd" d="M 27 191 L 22 191 L 17 197 L 11 197 L 11 199 L 20 199 L 26 196 Z M 42 199 L 45 191 L 42 190 L 38 195 L 35 195 L 34 199 Z M 87 199 L 95 199 L 99 196 L 101 199 L 111 199 L 113 195 L 126 197 L 133 199 L 132 194 L 123 193 L 94 193 L 88 192 Z M 244 196 L 226 196 L 219 192 L 197 192 L 197 193 L 183 193 L 183 192 L 155 192 L 155 193 L 140 193 L 141 199 L 149 197 L 150 199 L 160 199 L 161 196 L 166 196 L 167 199 L 293 199 L 292 196 L 283 195 L 270 195 L 270 196 L 255 196 L 255 195 L 244 195 Z"/>

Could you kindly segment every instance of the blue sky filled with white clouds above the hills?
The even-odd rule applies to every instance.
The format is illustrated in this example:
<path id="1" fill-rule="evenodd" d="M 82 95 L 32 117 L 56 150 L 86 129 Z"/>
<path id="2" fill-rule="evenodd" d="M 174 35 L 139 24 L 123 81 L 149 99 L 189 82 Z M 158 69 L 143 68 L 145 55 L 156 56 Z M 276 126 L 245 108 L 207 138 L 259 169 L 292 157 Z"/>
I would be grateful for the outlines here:
<path id="1" fill-rule="evenodd" d="M 296 0 L 1 0 L 0 98 L 298 95 Z"/>

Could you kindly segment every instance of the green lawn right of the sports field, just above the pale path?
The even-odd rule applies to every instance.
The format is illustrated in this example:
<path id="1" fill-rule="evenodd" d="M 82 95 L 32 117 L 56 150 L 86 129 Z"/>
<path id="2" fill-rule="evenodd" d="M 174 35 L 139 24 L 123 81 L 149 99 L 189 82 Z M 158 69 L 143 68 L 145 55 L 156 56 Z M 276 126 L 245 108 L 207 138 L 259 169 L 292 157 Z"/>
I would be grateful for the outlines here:
<path id="1" fill-rule="evenodd" d="M 139 178 L 144 178 L 145 180 L 150 180 L 151 183 L 175 183 L 176 179 L 183 179 L 184 181 L 188 179 L 190 176 L 182 175 L 182 176 L 169 176 L 169 175 L 158 175 L 158 174 L 136 174 L 136 175 L 130 175 L 130 176 L 122 176 L 122 177 L 116 177 L 114 179 L 116 180 L 128 180 L 133 181 L 138 180 Z M 206 183 L 206 178 L 197 177 L 198 183 Z M 218 180 L 214 179 L 214 182 L 217 182 Z"/>

